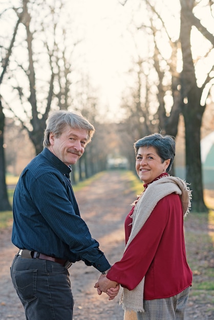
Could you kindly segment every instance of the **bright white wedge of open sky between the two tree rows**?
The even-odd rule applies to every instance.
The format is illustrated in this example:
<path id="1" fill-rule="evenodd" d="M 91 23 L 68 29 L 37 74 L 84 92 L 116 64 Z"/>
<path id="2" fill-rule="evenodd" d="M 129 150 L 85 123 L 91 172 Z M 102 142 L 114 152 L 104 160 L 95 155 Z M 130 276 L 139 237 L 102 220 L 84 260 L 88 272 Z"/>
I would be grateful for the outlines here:
<path id="1" fill-rule="evenodd" d="M 131 19 L 128 9 L 118 0 L 78 0 L 71 4 L 72 15 L 79 16 L 85 39 L 79 45 L 84 54 L 84 70 L 89 71 L 93 84 L 100 89 L 99 98 L 103 104 L 109 104 L 113 117 L 125 87 L 123 73 L 129 69 L 133 49 L 127 32 Z"/>

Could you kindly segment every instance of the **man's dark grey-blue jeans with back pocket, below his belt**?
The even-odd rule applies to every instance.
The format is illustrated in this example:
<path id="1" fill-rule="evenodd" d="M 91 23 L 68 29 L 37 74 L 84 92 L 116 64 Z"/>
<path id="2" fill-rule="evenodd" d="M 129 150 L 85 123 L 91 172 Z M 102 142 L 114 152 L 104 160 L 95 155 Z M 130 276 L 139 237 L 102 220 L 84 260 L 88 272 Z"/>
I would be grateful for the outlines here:
<path id="1" fill-rule="evenodd" d="M 16 255 L 11 278 L 27 320 L 73 319 L 69 272 L 59 263 Z"/>

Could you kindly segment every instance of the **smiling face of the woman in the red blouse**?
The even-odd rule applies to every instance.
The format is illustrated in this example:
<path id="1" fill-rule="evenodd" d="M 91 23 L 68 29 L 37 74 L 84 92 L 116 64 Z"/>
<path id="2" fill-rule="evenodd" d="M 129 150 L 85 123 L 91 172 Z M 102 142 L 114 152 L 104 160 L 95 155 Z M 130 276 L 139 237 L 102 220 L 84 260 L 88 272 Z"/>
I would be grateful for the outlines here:
<path id="1" fill-rule="evenodd" d="M 170 159 L 162 163 L 154 147 L 140 147 L 136 155 L 136 171 L 144 184 L 149 184 L 169 166 Z"/>

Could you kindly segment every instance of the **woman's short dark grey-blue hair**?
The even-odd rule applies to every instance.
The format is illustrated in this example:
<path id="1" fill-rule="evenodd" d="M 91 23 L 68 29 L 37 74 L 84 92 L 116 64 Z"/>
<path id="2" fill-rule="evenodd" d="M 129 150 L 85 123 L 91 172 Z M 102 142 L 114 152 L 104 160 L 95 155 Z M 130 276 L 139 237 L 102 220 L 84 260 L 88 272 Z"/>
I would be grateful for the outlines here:
<path id="1" fill-rule="evenodd" d="M 161 157 L 162 162 L 170 159 L 170 163 L 166 172 L 172 168 L 172 164 L 175 157 L 175 138 L 171 135 L 162 135 L 160 133 L 154 133 L 144 136 L 134 143 L 135 155 L 138 153 L 140 147 L 154 147 Z"/>

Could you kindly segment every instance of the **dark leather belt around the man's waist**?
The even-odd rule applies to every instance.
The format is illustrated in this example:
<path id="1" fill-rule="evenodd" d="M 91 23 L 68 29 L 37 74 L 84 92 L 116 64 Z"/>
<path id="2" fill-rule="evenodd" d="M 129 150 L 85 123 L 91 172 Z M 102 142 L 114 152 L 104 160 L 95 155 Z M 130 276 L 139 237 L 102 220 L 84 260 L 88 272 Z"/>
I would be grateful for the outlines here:
<path id="1" fill-rule="evenodd" d="M 70 268 L 70 266 L 72 265 L 72 262 L 68 260 L 47 256 L 44 254 L 40 254 L 37 251 L 30 251 L 27 249 L 19 249 L 18 255 L 21 256 L 22 258 L 50 260 L 50 261 L 61 264 L 63 267 L 67 269 Z"/>

